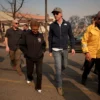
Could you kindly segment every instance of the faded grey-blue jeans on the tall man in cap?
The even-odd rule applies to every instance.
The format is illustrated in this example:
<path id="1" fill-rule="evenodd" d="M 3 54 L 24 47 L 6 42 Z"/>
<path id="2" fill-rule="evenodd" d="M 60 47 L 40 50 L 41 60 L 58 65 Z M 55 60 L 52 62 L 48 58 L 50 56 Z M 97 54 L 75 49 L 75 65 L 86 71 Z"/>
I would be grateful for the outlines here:
<path id="1" fill-rule="evenodd" d="M 61 71 L 68 65 L 68 50 L 53 51 L 52 53 L 55 61 L 57 87 L 62 87 Z"/>

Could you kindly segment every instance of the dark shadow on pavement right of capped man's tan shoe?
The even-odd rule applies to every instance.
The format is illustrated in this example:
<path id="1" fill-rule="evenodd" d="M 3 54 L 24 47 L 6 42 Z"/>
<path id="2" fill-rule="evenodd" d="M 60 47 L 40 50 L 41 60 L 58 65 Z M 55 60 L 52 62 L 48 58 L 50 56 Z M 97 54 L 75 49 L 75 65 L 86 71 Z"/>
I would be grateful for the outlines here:
<path id="1" fill-rule="evenodd" d="M 68 80 L 63 81 L 64 99 L 65 100 L 91 100 L 78 87 Z"/>

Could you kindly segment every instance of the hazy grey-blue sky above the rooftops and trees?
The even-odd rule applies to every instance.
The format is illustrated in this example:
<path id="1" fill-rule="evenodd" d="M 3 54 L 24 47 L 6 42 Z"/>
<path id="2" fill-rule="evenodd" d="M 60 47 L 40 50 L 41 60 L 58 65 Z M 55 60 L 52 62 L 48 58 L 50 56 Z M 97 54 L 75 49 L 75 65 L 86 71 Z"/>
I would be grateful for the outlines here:
<path id="1" fill-rule="evenodd" d="M 10 1 L 10 0 L 9 0 Z M 19 0 L 18 0 L 19 1 Z M 80 17 L 92 15 L 100 11 L 100 0 L 47 0 L 48 1 L 48 14 L 55 7 L 60 7 L 63 10 L 63 17 L 68 19 L 72 15 Z M 6 0 L 0 0 L 0 4 L 6 8 Z M 25 0 L 24 6 L 21 9 L 25 13 L 44 15 L 45 13 L 45 0 Z"/>

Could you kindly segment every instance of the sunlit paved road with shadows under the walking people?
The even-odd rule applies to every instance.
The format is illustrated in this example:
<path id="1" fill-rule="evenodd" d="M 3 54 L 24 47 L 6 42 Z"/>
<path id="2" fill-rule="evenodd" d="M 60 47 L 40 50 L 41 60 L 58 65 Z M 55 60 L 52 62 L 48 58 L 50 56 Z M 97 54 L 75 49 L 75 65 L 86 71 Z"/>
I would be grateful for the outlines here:
<path id="1" fill-rule="evenodd" d="M 69 66 L 62 73 L 64 96 L 59 96 L 54 81 L 54 61 L 45 53 L 43 64 L 43 89 L 39 94 L 34 83 L 26 84 L 26 68 L 22 67 L 23 76 L 19 76 L 10 66 L 9 56 L 0 48 L 0 100 L 100 100 L 97 91 L 97 76 L 92 72 L 86 86 L 80 84 L 84 56 L 69 54 Z M 34 74 L 34 77 L 36 75 Z"/>

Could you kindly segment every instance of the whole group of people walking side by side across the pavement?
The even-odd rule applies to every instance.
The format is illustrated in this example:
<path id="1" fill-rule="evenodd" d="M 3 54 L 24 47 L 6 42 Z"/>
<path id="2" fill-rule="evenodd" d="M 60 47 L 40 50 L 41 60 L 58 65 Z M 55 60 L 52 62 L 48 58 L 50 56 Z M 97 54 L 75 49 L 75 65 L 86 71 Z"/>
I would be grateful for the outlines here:
<path id="1" fill-rule="evenodd" d="M 62 9 L 54 8 L 52 11 L 55 21 L 50 25 L 49 30 L 49 56 L 55 61 L 55 80 L 57 91 L 63 95 L 62 71 L 68 66 L 68 45 L 70 41 L 71 53 L 75 54 L 75 40 L 72 33 L 71 24 L 63 19 Z M 42 91 L 42 65 L 46 51 L 46 42 L 43 34 L 39 33 L 39 22 L 31 20 L 30 30 L 27 24 L 24 31 L 18 28 L 18 20 L 12 22 L 5 35 L 6 51 L 9 52 L 11 65 L 22 75 L 21 54 L 26 58 L 27 83 L 33 81 L 34 65 L 36 66 L 36 86 L 35 89 Z M 26 27 L 26 28 L 25 28 Z M 91 70 L 92 63 L 95 62 L 98 69 L 98 93 L 100 94 L 100 12 L 96 15 L 95 23 L 87 28 L 82 38 L 82 50 L 85 55 L 85 67 L 82 74 L 82 84 L 85 85 L 87 76 Z"/>

